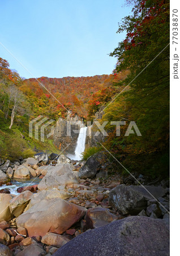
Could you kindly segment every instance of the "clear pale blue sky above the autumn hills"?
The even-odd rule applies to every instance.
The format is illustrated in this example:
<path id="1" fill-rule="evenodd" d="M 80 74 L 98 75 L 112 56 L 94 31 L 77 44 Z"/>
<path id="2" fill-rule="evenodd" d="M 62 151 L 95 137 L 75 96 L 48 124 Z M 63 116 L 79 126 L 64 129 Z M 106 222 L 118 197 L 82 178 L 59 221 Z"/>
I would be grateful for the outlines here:
<path id="1" fill-rule="evenodd" d="M 0 42 L 33 77 L 112 73 L 108 53 L 125 34 L 118 22 L 130 14 L 125 0 L 0 0 Z M 0 45 L 0 56 L 25 78 L 32 77 Z"/>

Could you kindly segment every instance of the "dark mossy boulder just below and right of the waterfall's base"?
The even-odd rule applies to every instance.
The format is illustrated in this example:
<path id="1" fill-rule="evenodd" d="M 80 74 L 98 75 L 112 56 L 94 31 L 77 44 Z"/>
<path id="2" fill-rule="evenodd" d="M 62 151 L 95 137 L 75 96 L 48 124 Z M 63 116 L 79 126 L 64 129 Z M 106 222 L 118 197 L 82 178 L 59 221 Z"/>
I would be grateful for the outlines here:
<path id="1" fill-rule="evenodd" d="M 103 152 L 97 152 L 90 156 L 84 166 L 79 169 L 79 177 L 83 179 L 95 177 L 105 162 L 106 156 Z"/>

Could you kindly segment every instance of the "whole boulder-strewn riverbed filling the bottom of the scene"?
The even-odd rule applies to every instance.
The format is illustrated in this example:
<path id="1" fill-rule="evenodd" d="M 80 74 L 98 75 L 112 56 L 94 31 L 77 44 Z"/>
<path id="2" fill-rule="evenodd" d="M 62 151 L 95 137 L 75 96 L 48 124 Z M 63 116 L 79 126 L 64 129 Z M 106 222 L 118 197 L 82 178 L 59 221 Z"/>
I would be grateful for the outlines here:
<path id="1" fill-rule="evenodd" d="M 35 158 L 1 162 L 3 189 L 25 183 L 0 193 L 0 255 L 169 255 L 168 181 L 108 176 L 99 155 Z"/>

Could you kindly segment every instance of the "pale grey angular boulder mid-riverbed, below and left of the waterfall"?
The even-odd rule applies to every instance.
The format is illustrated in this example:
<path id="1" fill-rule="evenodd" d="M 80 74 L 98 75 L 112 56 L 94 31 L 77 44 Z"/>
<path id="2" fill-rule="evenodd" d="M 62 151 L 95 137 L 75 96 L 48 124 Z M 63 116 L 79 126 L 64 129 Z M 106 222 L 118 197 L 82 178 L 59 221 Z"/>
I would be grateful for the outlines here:
<path id="1" fill-rule="evenodd" d="M 71 186 L 77 184 L 78 180 L 73 173 L 70 164 L 61 163 L 49 168 L 45 177 L 38 184 L 39 190 L 58 188 L 60 185 Z"/>

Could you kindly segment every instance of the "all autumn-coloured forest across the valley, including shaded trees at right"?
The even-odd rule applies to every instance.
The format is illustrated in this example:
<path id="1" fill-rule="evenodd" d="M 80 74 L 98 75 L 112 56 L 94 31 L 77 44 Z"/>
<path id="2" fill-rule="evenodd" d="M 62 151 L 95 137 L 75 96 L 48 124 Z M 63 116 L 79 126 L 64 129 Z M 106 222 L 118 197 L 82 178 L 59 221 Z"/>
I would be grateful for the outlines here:
<path id="1" fill-rule="evenodd" d="M 115 158 L 131 171 L 168 175 L 169 1 L 138 0 L 133 10 L 134 14 L 119 23 L 117 32 L 127 34 L 110 53 L 117 57 L 111 75 L 23 80 L 6 60 L 0 59 L 1 155 L 12 156 L 16 147 L 18 152 L 23 147 L 23 152 L 30 150 L 31 153 L 36 147 L 44 148 L 32 139 L 28 138 L 27 142 L 23 139 L 28 137 L 28 122 L 37 115 L 57 120 L 65 118 L 70 110 L 72 115 L 78 114 L 85 121 L 92 120 L 101 106 L 105 113 L 101 122 L 109 121 L 105 129 L 110 131 L 104 146 Z M 126 121 L 126 125 L 121 126 L 120 137 L 116 136 L 110 121 Z M 130 121 L 136 122 L 141 137 L 124 136 Z M 22 137 L 20 145 L 27 144 L 20 146 L 14 143 L 14 138 L 15 146 L 10 147 L 11 139 L 5 138 L 11 138 L 10 134 L 17 131 Z M 97 148 L 90 148 L 85 154 L 95 151 Z"/>

